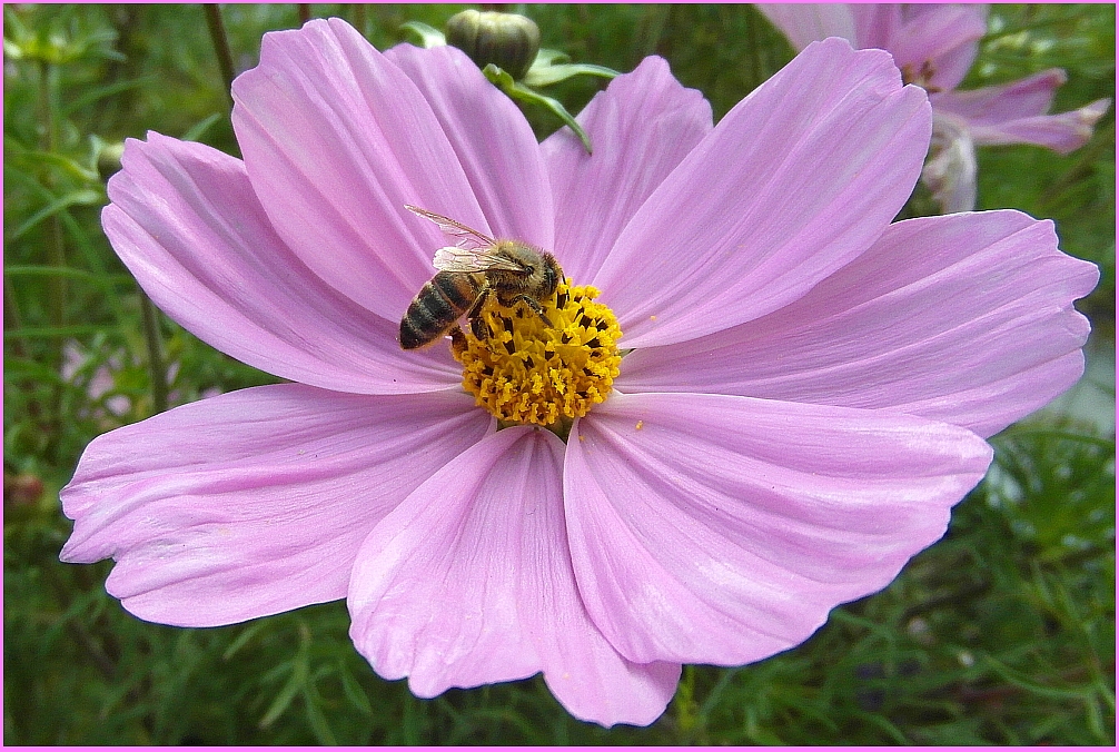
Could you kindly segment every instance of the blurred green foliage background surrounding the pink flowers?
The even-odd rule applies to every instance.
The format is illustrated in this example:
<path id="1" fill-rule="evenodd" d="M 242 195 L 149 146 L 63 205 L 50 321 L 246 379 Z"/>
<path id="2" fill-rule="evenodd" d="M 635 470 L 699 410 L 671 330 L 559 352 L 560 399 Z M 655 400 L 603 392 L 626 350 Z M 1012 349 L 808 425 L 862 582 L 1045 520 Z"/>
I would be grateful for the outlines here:
<path id="1" fill-rule="evenodd" d="M 100 225 L 120 142 L 148 129 L 237 154 L 234 73 L 261 36 L 340 16 L 384 49 L 466 6 L 4 7 L 6 744 L 1115 743 L 1115 114 L 1061 157 L 979 154 L 980 208 L 1057 223 L 1097 263 L 1089 373 L 993 440 L 944 540 L 808 642 L 741 668 L 685 667 L 647 728 L 570 717 L 539 677 L 432 699 L 379 679 L 341 602 L 220 629 L 142 622 L 111 563 L 63 565 L 58 489 L 95 435 L 166 405 L 274 382 L 153 310 Z M 510 6 L 545 47 L 630 70 L 659 54 L 721 118 L 792 57 L 749 6 Z M 222 32 L 215 36 L 219 25 Z M 1056 111 L 1115 97 L 1115 6 L 994 6 L 963 88 L 1052 66 Z M 548 93 L 576 113 L 602 87 Z M 560 125 L 527 112 L 540 137 Z M 908 212 L 928 213 L 921 189 Z"/>

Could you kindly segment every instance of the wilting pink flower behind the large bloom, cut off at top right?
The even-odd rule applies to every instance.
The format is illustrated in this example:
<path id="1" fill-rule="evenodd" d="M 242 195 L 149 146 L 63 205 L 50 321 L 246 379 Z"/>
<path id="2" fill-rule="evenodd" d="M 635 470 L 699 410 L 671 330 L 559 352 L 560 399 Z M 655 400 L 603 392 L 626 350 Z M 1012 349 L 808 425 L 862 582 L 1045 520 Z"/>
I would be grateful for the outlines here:
<path id="1" fill-rule="evenodd" d="M 1060 68 L 1002 86 L 956 91 L 987 31 L 986 6 L 792 3 L 759 8 L 798 50 L 827 37 L 843 37 L 858 49 L 885 49 L 908 83 L 929 91 L 932 157 L 922 179 L 944 212 L 975 208 L 977 145 L 1033 143 L 1066 154 L 1084 145 L 1096 121 L 1111 105 L 1111 100 L 1098 100 L 1072 112 L 1045 114 L 1065 82 Z"/>

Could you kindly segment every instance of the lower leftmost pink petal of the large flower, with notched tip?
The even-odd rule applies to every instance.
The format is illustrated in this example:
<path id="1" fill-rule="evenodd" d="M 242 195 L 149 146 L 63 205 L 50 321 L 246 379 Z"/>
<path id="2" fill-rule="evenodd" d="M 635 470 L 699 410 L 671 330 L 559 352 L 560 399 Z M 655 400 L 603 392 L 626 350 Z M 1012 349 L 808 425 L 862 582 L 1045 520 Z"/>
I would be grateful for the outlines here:
<path id="1" fill-rule="evenodd" d="M 113 557 L 110 594 L 180 627 L 342 598 L 369 530 L 490 424 L 454 392 L 286 384 L 184 405 L 86 448 L 62 560 Z"/>

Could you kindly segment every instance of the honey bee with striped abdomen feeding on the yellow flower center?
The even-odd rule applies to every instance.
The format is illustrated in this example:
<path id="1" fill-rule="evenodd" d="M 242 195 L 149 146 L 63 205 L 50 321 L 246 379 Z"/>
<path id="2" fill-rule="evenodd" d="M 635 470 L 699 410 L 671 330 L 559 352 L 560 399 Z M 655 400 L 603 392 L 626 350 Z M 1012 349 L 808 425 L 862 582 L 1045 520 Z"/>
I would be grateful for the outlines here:
<path id="1" fill-rule="evenodd" d="M 486 339 L 488 331 L 480 313 L 491 294 L 502 306 L 524 302 L 552 326 L 540 301 L 555 293 L 563 276 L 555 256 L 520 241 L 495 241 L 434 212 L 404 208 L 434 222 L 455 244 L 435 252 L 433 263 L 439 273 L 421 288 L 401 320 L 402 348 L 430 345 L 451 331 L 463 314 L 474 337 Z"/>

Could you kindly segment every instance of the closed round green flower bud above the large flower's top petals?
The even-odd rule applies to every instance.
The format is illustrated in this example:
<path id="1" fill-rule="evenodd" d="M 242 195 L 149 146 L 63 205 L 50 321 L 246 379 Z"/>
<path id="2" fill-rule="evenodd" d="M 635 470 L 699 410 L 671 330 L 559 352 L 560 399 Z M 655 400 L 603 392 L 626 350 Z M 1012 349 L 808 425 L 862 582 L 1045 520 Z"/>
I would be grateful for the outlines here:
<path id="1" fill-rule="evenodd" d="M 540 30 L 517 13 L 463 10 L 446 22 L 446 44 L 469 55 L 479 68 L 492 63 L 519 81 L 540 49 Z"/>

